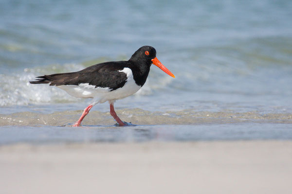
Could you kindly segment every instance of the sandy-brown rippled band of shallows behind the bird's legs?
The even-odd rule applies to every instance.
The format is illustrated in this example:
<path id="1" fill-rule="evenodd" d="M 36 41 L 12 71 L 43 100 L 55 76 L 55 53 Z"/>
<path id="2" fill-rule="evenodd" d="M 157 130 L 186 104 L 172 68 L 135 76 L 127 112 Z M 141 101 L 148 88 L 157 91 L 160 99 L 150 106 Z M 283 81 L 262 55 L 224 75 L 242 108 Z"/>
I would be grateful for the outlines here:
<path id="1" fill-rule="evenodd" d="M 70 126 L 78 120 L 83 110 L 55 113 L 19 112 L 0 114 L 0 126 Z M 292 113 L 258 112 L 198 112 L 194 110 L 149 112 L 143 109 L 119 109 L 116 111 L 123 121 L 135 125 L 191 125 L 224 123 L 282 123 L 292 124 Z M 113 125 L 109 112 L 91 111 L 83 125 Z"/>

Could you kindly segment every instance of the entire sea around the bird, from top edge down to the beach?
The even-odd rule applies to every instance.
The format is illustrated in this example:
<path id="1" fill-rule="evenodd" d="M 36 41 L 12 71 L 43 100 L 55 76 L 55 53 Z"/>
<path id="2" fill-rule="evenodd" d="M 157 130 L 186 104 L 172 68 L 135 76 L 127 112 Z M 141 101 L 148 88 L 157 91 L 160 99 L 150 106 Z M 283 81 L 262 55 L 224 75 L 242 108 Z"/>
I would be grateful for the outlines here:
<path id="1" fill-rule="evenodd" d="M 152 65 L 143 88 L 115 103 L 118 115 L 137 125 L 116 141 L 128 141 L 127 134 L 139 140 L 136 129 L 174 137 L 157 140 L 291 139 L 291 10 L 290 0 L 2 0 L 0 143 L 21 142 L 27 134 L 37 141 L 39 133 L 62 133 L 65 142 L 80 131 L 122 133 L 108 103 L 95 105 L 85 126 L 70 130 L 91 99 L 29 81 L 128 60 L 144 45 L 157 50 L 176 78 Z M 107 139 L 92 135 L 92 141 Z"/>

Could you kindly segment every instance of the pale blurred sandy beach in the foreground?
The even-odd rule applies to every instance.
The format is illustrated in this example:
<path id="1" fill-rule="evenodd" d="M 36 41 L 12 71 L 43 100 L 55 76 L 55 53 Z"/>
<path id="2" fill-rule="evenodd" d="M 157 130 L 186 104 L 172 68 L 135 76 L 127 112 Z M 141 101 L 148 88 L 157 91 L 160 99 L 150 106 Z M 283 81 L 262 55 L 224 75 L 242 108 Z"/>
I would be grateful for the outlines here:
<path id="1" fill-rule="evenodd" d="M 292 141 L 0 146 L 0 193 L 292 192 Z"/>

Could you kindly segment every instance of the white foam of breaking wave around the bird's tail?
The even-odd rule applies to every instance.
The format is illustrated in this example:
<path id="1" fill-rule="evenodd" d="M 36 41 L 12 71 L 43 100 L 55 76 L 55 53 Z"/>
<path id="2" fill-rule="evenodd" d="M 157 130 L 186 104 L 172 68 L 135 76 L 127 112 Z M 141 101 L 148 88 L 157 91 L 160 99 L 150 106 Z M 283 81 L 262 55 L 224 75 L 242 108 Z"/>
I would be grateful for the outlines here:
<path id="1" fill-rule="evenodd" d="M 56 68 L 57 66 L 57 68 Z M 49 68 L 25 68 L 22 72 L 0 75 L 0 106 L 28 105 L 58 102 L 76 102 L 66 92 L 48 84 L 30 84 L 37 76 L 58 71 L 77 71 L 82 65 L 50 65 Z"/>

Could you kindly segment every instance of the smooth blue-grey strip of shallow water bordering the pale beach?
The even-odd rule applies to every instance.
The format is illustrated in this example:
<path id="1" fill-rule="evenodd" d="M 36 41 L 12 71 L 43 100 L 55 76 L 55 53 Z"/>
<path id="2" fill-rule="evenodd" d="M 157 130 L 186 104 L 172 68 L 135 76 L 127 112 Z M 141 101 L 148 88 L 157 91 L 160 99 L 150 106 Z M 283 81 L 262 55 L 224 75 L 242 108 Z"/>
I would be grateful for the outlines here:
<path id="1" fill-rule="evenodd" d="M 68 144 L 97 142 L 292 140 L 291 124 L 141 125 L 16 127 L 0 129 L 0 145 L 13 143 Z"/>

